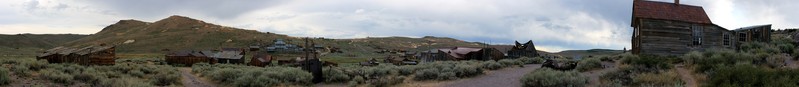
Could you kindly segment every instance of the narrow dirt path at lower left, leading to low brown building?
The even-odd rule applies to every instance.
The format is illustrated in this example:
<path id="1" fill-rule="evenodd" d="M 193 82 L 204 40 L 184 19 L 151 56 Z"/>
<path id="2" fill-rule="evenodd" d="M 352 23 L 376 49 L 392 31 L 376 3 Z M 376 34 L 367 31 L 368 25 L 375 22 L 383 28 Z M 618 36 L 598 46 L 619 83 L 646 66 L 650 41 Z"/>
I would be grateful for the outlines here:
<path id="1" fill-rule="evenodd" d="M 191 74 L 191 68 L 179 68 L 180 75 L 183 77 L 181 82 L 184 87 L 216 87 L 216 85 L 208 84 L 209 82 L 201 80 L 199 77 Z"/>

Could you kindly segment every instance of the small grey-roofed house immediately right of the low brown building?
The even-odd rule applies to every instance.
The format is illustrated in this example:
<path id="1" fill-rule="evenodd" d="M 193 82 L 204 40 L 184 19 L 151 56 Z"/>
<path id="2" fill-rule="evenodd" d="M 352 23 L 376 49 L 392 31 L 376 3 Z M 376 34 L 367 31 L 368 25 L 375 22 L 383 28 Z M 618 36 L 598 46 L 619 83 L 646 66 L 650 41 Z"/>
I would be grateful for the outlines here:
<path id="1" fill-rule="evenodd" d="M 217 63 L 241 64 L 244 63 L 244 49 L 223 48 L 220 52 L 211 56 Z"/>

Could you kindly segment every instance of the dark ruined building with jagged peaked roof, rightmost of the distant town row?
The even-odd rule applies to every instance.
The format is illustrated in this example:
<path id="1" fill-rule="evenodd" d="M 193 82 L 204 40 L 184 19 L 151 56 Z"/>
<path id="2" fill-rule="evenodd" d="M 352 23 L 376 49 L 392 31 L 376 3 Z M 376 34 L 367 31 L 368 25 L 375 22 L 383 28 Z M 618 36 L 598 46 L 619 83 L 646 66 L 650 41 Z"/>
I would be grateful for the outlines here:
<path id="1" fill-rule="evenodd" d="M 509 58 L 538 56 L 538 50 L 535 49 L 533 40 L 527 41 L 527 43 L 524 44 L 519 43 L 519 41 L 515 41 L 515 43 L 516 46 L 513 46 L 513 48 L 507 52 Z"/>

